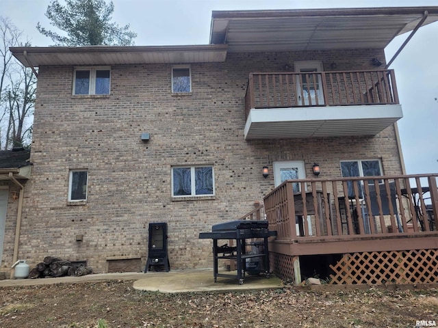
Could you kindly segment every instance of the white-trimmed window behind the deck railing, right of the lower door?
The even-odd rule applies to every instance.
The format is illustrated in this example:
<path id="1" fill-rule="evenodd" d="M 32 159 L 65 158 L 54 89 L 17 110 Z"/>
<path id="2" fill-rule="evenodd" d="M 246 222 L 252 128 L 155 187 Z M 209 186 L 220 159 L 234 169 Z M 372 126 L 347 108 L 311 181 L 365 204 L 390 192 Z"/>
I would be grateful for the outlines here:
<path id="1" fill-rule="evenodd" d="M 356 161 L 341 161 L 342 176 L 381 176 L 382 164 L 378 159 L 356 160 Z M 381 183 L 379 181 L 379 183 Z M 374 180 L 369 180 L 368 184 L 374 184 Z M 347 182 L 348 196 L 355 196 L 352 181 Z M 357 182 L 359 198 L 363 198 L 363 188 L 361 181 Z"/>

